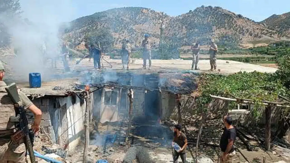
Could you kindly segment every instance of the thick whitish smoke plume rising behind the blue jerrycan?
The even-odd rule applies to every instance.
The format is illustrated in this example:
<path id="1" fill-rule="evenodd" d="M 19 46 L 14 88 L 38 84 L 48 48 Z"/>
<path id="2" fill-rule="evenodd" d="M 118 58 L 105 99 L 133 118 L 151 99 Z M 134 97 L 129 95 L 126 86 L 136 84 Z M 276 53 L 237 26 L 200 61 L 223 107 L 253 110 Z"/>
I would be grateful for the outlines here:
<path id="1" fill-rule="evenodd" d="M 21 1 L 21 17 L 8 18 L 0 15 L 0 21 L 8 28 L 12 37 L 11 47 L 17 57 L 9 65 L 15 80 L 27 81 L 28 73 L 39 72 L 45 80 L 52 74 L 51 61 L 60 52 L 59 27 L 74 12 L 69 0 L 62 1 Z M 46 43 L 46 54 L 43 45 Z"/>

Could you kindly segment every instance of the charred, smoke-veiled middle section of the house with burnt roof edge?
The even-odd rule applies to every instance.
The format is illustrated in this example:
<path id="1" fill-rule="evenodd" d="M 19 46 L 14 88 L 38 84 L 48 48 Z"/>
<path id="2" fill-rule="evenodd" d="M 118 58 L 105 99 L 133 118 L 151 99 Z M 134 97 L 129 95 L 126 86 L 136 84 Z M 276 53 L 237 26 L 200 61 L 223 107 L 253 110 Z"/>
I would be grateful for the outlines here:
<path id="1" fill-rule="evenodd" d="M 164 120 L 176 113 L 178 94 L 197 88 L 197 74 L 159 72 L 103 72 L 89 74 L 84 83 L 98 88 L 93 114 L 98 122 L 116 122 L 129 116 L 128 91 L 133 90 L 133 121 Z"/>

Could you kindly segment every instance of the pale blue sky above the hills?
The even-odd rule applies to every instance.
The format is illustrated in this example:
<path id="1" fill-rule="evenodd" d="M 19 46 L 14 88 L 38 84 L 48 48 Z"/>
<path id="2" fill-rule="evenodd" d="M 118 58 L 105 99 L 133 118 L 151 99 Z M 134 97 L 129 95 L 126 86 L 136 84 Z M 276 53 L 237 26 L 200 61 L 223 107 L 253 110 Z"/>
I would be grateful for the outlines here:
<path id="1" fill-rule="evenodd" d="M 202 5 L 220 6 L 226 10 L 242 14 L 254 21 L 262 21 L 272 14 L 290 12 L 289 0 L 20 0 L 24 15 L 30 19 L 51 19 L 72 21 L 119 7 L 145 7 L 176 16 Z M 50 17 L 48 15 L 54 15 Z"/>

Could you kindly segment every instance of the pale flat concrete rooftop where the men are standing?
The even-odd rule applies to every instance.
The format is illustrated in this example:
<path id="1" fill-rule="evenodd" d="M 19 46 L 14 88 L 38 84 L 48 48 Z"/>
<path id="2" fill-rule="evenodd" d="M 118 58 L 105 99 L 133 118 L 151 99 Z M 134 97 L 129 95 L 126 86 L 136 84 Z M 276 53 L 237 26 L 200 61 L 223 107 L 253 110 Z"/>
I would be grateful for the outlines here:
<path id="1" fill-rule="evenodd" d="M 107 59 L 107 61 L 112 65 L 111 69 L 122 69 L 122 64 L 120 59 Z M 70 61 L 70 67 L 72 67 L 75 70 L 81 70 L 81 69 L 90 69 L 93 68 L 93 59 L 89 62 L 88 59 L 82 60 L 79 65 L 75 66 L 74 61 Z M 228 63 L 226 63 L 228 62 Z M 110 69 L 110 65 L 103 61 L 104 67 L 106 69 Z M 139 69 L 138 71 L 146 71 L 148 73 L 150 72 L 164 72 L 164 71 L 176 71 L 176 70 L 185 70 L 185 69 L 191 69 L 191 60 L 152 60 L 152 69 L 151 70 L 142 70 L 142 59 L 133 59 L 133 63 L 130 65 L 130 69 Z M 201 71 L 197 72 L 206 72 L 210 69 L 209 60 L 200 60 L 199 61 L 199 68 Z M 148 65 L 148 61 L 147 61 Z M 58 63 L 58 68 L 63 68 L 62 63 Z M 225 74 L 232 74 L 240 71 L 246 71 L 246 72 L 268 72 L 268 73 L 274 73 L 276 72 L 276 68 L 272 67 L 264 67 L 260 65 L 254 65 L 250 63 L 242 63 L 237 61 L 227 61 L 227 60 L 217 60 L 217 69 L 220 69 L 221 73 Z"/>

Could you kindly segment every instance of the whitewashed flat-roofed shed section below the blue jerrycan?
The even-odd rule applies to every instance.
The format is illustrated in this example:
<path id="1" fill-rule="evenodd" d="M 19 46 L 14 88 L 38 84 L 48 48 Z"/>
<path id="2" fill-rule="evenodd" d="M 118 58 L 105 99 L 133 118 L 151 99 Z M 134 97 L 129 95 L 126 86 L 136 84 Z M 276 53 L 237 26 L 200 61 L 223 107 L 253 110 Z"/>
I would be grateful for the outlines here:
<path id="1" fill-rule="evenodd" d="M 84 130 L 86 101 L 81 98 L 81 90 L 71 83 L 75 80 L 57 80 L 44 82 L 41 88 L 29 88 L 28 84 L 18 84 L 31 101 L 41 109 L 41 133 L 50 137 L 52 143 L 62 149 L 77 146 Z M 93 97 L 93 95 L 91 95 Z M 28 120 L 33 122 L 33 114 Z"/>

